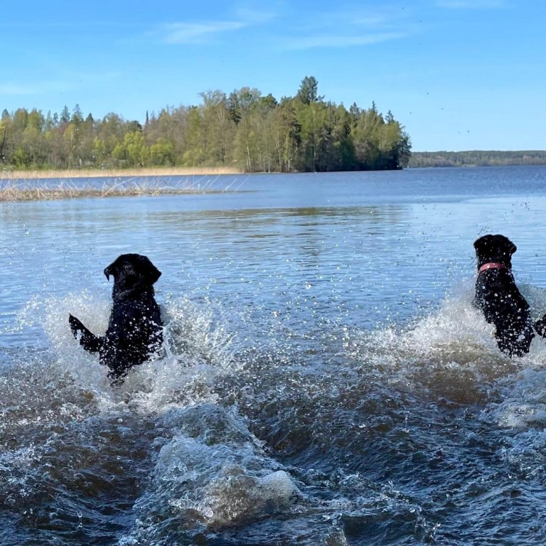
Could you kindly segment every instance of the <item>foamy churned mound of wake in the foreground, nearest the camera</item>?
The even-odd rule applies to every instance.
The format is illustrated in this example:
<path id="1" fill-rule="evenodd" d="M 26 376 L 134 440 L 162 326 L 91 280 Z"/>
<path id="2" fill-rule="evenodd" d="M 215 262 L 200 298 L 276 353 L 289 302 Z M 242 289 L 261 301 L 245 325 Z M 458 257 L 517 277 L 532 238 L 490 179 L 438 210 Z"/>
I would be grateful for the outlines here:
<path id="1" fill-rule="evenodd" d="M 280 510 L 299 492 L 234 408 L 203 404 L 170 412 L 165 419 L 174 435 L 157 440 L 162 446 L 149 490 L 136 505 L 134 537 L 144 532 L 138 522 L 149 510 L 176 510 L 180 525 L 221 527 Z"/>

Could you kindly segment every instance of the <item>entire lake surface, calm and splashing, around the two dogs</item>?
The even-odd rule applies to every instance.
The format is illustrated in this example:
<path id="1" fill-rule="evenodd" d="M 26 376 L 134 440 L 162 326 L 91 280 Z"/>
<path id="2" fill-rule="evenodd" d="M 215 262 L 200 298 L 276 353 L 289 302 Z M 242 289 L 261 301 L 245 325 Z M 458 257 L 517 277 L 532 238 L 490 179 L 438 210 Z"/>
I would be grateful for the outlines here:
<path id="1" fill-rule="evenodd" d="M 546 167 L 165 183 L 221 193 L 0 205 L 2 545 L 546 541 L 546 342 L 471 306 L 491 232 L 546 312 Z M 166 357 L 112 389 L 68 314 L 125 252 Z"/>

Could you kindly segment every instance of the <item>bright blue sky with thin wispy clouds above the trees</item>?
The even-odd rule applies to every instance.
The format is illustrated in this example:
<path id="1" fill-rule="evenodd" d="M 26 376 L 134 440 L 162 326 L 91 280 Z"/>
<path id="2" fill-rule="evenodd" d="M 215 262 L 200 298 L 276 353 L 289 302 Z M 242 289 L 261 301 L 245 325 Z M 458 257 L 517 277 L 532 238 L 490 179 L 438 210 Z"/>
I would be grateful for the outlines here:
<path id="1" fill-rule="evenodd" d="M 543 0 L 6 1 L 0 109 L 197 105 L 305 76 L 326 100 L 391 110 L 414 151 L 546 149 Z"/>

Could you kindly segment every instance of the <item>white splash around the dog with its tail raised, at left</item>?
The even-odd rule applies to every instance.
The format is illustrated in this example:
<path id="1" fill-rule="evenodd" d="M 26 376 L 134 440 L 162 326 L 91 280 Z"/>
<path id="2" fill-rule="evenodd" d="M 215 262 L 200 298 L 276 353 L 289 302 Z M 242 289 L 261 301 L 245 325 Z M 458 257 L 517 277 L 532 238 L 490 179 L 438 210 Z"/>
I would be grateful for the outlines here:
<path id="1" fill-rule="evenodd" d="M 98 355 L 80 347 L 68 323 L 73 314 L 102 335 L 110 307 L 106 296 L 83 291 L 62 299 L 36 297 L 18 314 L 21 328 L 39 328 L 47 336 L 50 373 L 70 375 L 75 387 L 97 398 L 102 411 L 128 401 L 134 409 L 149 412 L 214 400 L 215 380 L 237 369 L 232 360 L 235 332 L 219 319 L 218 308 L 210 302 L 194 304 L 183 296 L 168 298 L 163 306 L 164 355 L 133 368 L 122 387 L 112 389 L 107 368 L 100 365 Z"/>

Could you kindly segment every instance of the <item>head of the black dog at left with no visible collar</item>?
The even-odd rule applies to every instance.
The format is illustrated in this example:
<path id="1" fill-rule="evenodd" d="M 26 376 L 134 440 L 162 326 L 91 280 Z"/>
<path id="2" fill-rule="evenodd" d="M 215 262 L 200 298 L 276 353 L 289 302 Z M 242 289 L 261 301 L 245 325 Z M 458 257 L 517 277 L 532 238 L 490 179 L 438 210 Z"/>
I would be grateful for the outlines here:
<path id="1" fill-rule="evenodd" d="M 106 278 L 114 277 L 114 291 L 150 289 L 161 277 L 161 271 L 150 259 L 140 254 L 122 254 L 105 269 Z"/>

